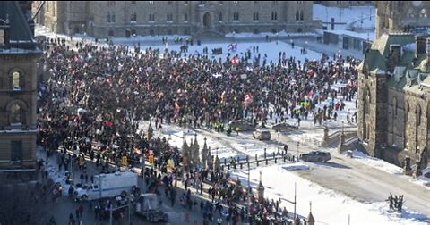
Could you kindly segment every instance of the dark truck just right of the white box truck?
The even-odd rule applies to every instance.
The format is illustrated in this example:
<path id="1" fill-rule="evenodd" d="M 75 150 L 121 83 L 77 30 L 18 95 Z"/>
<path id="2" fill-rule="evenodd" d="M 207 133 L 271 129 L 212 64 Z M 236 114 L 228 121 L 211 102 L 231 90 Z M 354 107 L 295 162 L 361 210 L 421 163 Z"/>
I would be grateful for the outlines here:
<path id="1" fill-rule="evenodd" d="M 159 208 L 159 198 L 156 194 L 141 194 L 136 204 L 136 213 L 150 222 L 168 221 L 168 214 Z"/>

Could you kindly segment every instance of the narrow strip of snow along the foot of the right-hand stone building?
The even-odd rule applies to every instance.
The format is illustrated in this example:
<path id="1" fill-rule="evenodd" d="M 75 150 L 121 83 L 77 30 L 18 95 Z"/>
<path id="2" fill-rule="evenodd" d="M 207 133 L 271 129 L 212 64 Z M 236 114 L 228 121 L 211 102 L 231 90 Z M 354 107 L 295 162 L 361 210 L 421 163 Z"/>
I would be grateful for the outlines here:
<path id="1" fill-rule="evenodd" d="M 354 150 L 352 152 L 352 154 L 353 154 L 353 159 L 355 159 L 359 162 L 363 162 L 363 163 L 365 163 L 369 166 L 372 166 L 378 170 L 386 171 L 388 173 L 397 174 L 397 175 L 403 174 L 403 169 L 401 169 L 400 167 L 398 167 L 394 164 L 391 164 L 389 162 L 385 162 L 381 159 L 371 157 L 371 156 L 364 154 L 358 150 Z"/>

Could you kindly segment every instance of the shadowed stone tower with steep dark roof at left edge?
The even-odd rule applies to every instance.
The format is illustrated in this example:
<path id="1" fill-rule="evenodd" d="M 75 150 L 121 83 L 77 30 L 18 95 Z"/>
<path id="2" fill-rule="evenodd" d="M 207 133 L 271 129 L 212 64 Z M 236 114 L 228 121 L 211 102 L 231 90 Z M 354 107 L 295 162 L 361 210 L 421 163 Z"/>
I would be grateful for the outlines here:
<path id="1" fill-rule="evenodd" d="M 42 52 L 18 1 L 0 2 L 0 170 L 36 166 L 37 66 Z"/>

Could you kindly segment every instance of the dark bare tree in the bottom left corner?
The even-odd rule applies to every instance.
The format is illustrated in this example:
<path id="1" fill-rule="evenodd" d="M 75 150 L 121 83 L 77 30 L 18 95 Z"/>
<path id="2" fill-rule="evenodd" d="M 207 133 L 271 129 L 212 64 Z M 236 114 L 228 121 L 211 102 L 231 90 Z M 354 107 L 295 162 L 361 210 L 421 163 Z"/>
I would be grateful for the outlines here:
<path id="1" fill-rule="evenodd" d="M 55 189 L 50 179 L 22 182 L 0 176 L 0 224 L 48 224 Z"/>

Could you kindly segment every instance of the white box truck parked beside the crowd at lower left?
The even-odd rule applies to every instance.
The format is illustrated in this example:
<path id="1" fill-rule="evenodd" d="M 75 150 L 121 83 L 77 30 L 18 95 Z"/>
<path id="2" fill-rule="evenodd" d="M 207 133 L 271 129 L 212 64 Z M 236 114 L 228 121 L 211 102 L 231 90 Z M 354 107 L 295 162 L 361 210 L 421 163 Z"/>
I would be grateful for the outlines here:
<path id="1" fill-rule="evenodd" d="M 137 186 L 137 174 L 131 171 L 99 174 L 93 184 L 84 184 L 76 189 L 76 198 L 94 200 L 104 197 L 125 196 Z"/>

